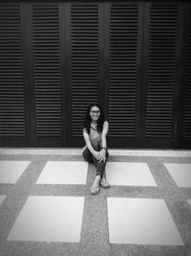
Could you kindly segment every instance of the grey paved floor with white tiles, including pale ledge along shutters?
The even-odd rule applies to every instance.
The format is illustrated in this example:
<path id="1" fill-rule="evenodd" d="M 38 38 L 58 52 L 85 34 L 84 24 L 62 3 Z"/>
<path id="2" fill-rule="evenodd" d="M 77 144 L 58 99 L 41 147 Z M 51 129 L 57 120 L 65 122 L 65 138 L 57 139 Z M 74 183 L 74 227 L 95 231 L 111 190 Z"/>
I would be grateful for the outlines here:
<path id="1" fill-rule="evenodd" d="M 191 151 L 0 150 L 0 255 L 191 255 Z"/>

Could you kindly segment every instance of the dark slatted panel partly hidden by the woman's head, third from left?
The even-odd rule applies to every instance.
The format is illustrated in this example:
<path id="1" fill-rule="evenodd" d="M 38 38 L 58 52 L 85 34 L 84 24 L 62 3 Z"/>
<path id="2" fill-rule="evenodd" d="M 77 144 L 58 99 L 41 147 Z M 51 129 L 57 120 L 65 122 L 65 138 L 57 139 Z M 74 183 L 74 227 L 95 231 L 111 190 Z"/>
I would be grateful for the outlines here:
<path id="1" fill-rule="evenodd" d="M 81 123 L 89 104 L 98 101 L 98 5 L 72 3 L 71 86 L 73 136 L 81 137 Z"/>

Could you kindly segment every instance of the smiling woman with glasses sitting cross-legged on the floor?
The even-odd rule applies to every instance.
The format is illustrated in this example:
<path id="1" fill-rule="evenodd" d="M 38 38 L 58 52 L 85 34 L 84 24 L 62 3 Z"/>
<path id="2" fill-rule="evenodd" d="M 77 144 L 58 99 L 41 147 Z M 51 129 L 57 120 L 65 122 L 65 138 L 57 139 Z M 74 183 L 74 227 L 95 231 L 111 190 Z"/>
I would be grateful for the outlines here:
<path id="1" fill-rule="evenodd" d="M 86 145 L 82 155 L 86 161 L 96 166 L 96 178 L 91 187 L 91 195 L 98 194 L 100 186 L 110 187 L 105 175 L 105 165 L 109 156 L 106 140 L 108 128 L 109 124 L 104 120 L 101 107 L 96 104 L 89 105 L 83 124 L 83 137 Z"/>

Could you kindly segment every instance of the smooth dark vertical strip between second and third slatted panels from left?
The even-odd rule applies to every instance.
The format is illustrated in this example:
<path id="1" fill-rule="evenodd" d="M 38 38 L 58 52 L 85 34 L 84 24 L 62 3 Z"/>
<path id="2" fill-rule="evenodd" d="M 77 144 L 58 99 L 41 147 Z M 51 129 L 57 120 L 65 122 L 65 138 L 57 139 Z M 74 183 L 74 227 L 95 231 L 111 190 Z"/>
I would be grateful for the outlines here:
<path id="1" fill-rule="evenodd" d="M 59 3 L 59 34 L 60 34 L 60 68 L 61 68 L 61 109 L 62 133 L 61 146 L 68 147 L 69 124 L 69 70 L 70 70 L 70 4 Z M 68 97 L 69 96 L 69 97 Z"/>

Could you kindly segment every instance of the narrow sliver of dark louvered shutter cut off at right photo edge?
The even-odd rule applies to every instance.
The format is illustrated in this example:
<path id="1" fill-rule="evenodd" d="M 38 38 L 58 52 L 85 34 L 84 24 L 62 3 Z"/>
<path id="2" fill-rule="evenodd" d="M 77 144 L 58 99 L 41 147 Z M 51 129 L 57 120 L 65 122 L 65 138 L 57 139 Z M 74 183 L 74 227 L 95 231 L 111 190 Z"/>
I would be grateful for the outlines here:
<path id="1" fill-rule="evenodd" d="M 181 145 L 184 148 L 191 147 L 191 6 L 188 6 L 186 20 L 186 41 L 184 48 L 184 91 L 183 91 L 183 131 Z"/>

